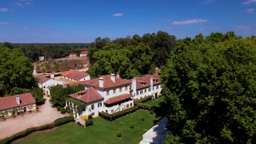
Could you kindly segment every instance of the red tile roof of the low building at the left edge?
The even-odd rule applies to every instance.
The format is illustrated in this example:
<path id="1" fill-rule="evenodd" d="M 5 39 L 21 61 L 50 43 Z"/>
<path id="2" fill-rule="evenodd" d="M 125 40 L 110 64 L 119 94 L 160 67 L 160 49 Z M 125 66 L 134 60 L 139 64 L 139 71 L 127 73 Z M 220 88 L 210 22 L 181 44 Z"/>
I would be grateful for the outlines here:
<path id="1" fill-rule="evenodd" d="M 0 110 L 8 110 L 15 107 L 36 104 L 31 93 L 17 94 L 20 96 L 20 105 L 16 102 L 16 95 L 0 98 Z"/>

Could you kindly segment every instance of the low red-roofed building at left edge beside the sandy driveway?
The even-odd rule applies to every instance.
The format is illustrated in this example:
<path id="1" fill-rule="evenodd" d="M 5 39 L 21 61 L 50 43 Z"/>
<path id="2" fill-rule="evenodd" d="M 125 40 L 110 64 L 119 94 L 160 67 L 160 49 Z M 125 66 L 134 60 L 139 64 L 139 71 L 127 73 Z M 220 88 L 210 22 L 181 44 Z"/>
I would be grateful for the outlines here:
<path id="1" fill-rule="evenodd" d="M 0 98 L 0 116 L 11 117 L 19 112 L 36 111 L 36 100 L 31 93 L 23 93 Z"/>

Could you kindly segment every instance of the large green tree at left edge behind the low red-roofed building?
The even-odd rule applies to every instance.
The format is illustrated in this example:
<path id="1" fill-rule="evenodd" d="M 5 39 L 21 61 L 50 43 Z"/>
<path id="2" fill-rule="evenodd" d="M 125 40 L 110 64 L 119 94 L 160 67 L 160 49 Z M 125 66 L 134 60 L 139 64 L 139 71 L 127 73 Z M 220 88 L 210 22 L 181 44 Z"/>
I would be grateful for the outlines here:
<path id="1" fill-rule="evenodd" d="M 37 87 L 32 76 L 33 66 L 20 49 L 9 49 L 0 44 L 0 96 L 27 92 Z"/>

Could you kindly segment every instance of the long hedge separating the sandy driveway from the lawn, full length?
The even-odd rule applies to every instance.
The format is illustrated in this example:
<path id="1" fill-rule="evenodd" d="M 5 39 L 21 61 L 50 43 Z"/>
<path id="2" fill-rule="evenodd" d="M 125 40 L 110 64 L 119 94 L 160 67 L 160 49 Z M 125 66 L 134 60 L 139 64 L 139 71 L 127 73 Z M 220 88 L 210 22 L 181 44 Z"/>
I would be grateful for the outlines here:
<path id="1" fill-rule="evenodd" d="M 14 134 L 10 137 L 7 137 L 5 139 L 0 140 L 0 144 L 11 143 L 15 140 L 18 140 L 22 137 L 25 137 L 25 136 L 35 132 L 35 131 L 51 129 L 51 128 L 54 128 L 54 127 L 57 127 L 57 126 L 60 126 L 62 124 L 66 124 L 66 123 L 69 123 L 69 122 L 74 122 L 74 117 L 73 116 L 58 118 L 53 123 L 41 125 L 40 127 L 28 128 L 24 131 L 20 131 L 19 133 L 16 133 L 16 134 Z"/>

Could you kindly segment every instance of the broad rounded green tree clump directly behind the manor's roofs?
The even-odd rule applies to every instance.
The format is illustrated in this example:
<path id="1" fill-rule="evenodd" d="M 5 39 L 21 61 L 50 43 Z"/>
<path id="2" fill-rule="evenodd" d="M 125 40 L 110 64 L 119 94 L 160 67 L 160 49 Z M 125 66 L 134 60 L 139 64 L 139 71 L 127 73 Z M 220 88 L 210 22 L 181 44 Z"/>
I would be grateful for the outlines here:
<path id="1" fill-rule="evenodd" d="M 131 79 L 133 76 L 154 73 L 154 53 L 148 45 L 140 43 L 123 47 L 119 44 L 107 44 L 92 56 L 94 65 L 90 67 L 91 77 L 99 77 L 120 72 L 120 76 Z"/>

